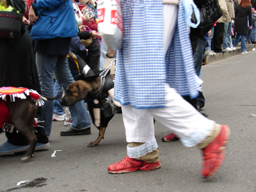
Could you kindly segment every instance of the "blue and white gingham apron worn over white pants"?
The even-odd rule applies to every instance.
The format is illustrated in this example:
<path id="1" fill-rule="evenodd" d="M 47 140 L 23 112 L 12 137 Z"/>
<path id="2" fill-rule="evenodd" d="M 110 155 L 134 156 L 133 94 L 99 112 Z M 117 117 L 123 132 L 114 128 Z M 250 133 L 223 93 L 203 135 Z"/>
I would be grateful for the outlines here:
<path id="1" fill-rule="evenodd" d="M 115 100 L 137 109 L 163 108 L 165 83 L 180 95 L 195 98 L 198 77 L 183 1 L 179 4 L 177 26 L 166 57 L 162 0 L 120 0 L 120 4 L 124 36 L 123 48 L 117 52 Z"/>

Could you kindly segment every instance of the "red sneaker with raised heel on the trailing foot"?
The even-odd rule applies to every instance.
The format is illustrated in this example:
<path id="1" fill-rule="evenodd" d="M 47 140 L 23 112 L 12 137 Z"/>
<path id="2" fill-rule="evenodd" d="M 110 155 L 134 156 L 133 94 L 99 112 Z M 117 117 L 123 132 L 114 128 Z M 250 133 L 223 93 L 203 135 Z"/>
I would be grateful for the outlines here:
<path id="1" fill-rule="evenodd" d="M 229 135 L 229 127 L 221 125 L 220 134 L 210 145 L 202 149 L 204 161 L 201 174 L 204 178 L 212 177 L 220 169 L 225 159 L 225 145 L 227 145 Z"/>

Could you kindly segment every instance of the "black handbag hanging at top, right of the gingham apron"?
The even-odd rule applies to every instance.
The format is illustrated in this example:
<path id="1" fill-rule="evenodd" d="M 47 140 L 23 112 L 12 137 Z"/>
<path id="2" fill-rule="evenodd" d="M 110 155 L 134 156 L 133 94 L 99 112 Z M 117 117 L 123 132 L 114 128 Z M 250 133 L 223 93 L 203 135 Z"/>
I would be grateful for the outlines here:
<path id="1" fill-rule="evenodd" d="M 205 4 L 198 7 L 200 11 L 200 24 L 197 28 L 204 28 L 207 26 L 213 26 L 216 20 L 220 19 L 223 15 L 218 0 L 207 0 Z M 196 23 L 195 13 L 191 15 L 191 22 Z"/>

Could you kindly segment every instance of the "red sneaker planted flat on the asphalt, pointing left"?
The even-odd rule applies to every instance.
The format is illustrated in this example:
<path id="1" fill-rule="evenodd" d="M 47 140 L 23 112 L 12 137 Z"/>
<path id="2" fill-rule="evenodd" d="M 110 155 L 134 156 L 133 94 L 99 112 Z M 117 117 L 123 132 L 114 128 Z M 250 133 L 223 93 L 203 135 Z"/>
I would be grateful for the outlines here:
<path id="1" fill-rule="evenodd" d="M 132 159 L 128 156 L 118 163 L 114 163 L 108 166 L 109 173 L 129 173 L 135 172 L 137 170 L 149 171 L 156 170 L 161 167 L 161 162 L 157 163 L 147 163 L 146 161 Z"/>

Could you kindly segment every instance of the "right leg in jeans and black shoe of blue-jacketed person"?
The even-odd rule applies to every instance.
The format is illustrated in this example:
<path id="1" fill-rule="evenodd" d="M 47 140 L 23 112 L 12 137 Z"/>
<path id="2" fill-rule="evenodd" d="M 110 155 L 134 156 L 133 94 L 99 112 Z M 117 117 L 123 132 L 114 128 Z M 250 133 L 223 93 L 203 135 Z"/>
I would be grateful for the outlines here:
<path id="1" fill-rule="evenodd" d="M 63 86 L 65 90 L 74 82 L 74 78 L 68 68 L 67 56 L 58 56 L 55 68 L 55 77 L 60 83 L 60 86 Z M 92 122 L 84 104 L 84 100 L 77 102 L 74 106 L 70 106 L 69 110 L 73 122 L 70 129 L 61 131 L 61 136 L 90 134 L 90 126 L 92 126 Z"/>

